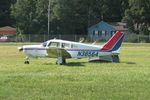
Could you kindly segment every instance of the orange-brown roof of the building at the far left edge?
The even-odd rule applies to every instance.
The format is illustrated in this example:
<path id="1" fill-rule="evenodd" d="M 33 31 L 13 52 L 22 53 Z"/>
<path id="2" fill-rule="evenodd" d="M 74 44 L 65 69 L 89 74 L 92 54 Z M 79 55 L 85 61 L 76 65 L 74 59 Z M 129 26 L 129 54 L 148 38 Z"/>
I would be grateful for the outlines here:
<path id="1" fill-rule="evenodd" d="M 0 34 L 2 35 L 15 35 L 16 28 L 10 27 L 10 26 L 5 26 L 0 28 Z"/>

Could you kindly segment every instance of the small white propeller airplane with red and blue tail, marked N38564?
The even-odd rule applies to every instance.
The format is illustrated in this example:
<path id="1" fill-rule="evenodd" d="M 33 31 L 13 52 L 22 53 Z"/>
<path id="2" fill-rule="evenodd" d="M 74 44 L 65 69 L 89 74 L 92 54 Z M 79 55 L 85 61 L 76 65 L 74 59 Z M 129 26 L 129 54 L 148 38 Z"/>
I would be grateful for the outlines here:
<path id="1" fill-rule="evenodd" d="M 18 47 L 26 55 L 25 64 L 29 58 L 57 58 L 56 64 L 66 64 L 68 58 L 91 58 L 119 55 L 124 33 L 117 31 L 104 45 L 84 44 L 60 39 L 48 40 L 40 45 L 24 45 Z"/>

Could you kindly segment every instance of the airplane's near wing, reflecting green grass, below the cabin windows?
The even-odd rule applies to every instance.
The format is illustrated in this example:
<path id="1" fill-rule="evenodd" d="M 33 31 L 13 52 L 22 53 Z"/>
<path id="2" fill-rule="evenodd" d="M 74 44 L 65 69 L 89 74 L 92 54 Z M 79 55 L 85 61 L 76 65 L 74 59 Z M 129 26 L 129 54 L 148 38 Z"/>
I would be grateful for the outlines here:
<path id="1" fill-rule="evenodd" d="M 67 52 L 67 50 L 62 48 L 49 47 L 46 49 L 46 51 L 48 57 L 50 58 L 57 58 L 57 57 L 71 58 L 71 55 Z"/>

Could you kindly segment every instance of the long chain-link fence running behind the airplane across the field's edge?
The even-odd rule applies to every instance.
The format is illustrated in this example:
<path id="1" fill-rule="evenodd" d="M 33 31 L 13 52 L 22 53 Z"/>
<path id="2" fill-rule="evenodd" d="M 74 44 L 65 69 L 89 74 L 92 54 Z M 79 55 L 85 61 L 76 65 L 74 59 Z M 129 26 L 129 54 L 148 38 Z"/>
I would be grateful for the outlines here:
<path id="1" fill-rule="evenodd" d="M 69 41 L 80 41 L 83 40 L 85 42 L 93 42 L 95 41 L 91 37 L 87 35 L 22 35 L 22 36 L 8 36 L 8 41 L 13 42 L 44 42 L 49 39 L 63 39 Z M 98 41 L 105 42 L 107 40 L 101 39 Z M 132 42 L 132 43 L 150 43 L 150 35 L 136 35 L 136 34 L 126 34 L 125 35 L 125 42 Z"/>

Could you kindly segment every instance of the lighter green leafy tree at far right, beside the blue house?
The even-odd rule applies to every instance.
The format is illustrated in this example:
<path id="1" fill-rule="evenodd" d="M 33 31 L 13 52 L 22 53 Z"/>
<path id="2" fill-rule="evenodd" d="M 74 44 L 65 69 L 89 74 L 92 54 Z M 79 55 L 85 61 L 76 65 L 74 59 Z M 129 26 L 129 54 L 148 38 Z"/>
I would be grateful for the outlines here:
<path id="1" fill-rule="evenodd" d="M 129 9 L 125 11 L 124 21 L 128 23 L 131 31 L 148 34 L 150 25 L 150 1 L 129 0 Z"/>

